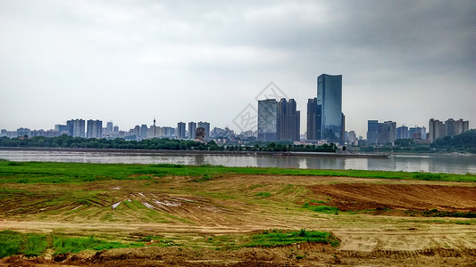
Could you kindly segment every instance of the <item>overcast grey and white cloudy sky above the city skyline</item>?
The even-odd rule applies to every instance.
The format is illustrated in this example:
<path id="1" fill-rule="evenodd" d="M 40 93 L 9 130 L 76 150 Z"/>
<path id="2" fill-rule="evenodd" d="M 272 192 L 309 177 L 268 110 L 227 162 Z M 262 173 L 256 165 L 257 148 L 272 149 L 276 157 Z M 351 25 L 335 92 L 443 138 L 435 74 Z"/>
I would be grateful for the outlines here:
<path id="1" fill-rule="evenodd" d="M 476 126 L 474 1 L 0 0 L 0 128 L 71 118 L 230 126 L 274 82 L 301 110 L 343 76 L 347 130 L 368 119 Z M 238 122 L 240 124 L 240 122 Z"/>

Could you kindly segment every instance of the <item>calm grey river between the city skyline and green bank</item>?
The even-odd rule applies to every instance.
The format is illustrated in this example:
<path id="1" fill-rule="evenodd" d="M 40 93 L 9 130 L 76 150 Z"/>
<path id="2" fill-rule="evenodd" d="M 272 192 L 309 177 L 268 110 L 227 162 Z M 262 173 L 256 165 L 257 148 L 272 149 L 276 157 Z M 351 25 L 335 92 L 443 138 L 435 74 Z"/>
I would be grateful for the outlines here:
<path id="1" fill-rule="evenodd" d="M 303 169 L 356 169 L 450 174 L 476 174 L 476 156 L 391 155 L 389 158 L 327 158 L 228 155 L 164 155 L 134 152 L 0 150 L 0 158 L 13 161 L 87 163 L 171 163 L 183 165 L 260 166 Z"/>

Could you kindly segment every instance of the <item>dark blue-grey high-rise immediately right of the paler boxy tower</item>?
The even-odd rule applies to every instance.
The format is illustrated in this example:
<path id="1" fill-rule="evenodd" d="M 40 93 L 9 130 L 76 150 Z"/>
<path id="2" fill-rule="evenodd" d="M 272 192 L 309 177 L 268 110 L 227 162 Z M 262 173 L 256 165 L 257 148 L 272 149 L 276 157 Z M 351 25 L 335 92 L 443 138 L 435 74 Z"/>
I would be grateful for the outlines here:
<path id="1" fill-rule="evenodd" d="M 278 140 L 299 141 L 300 118 L 296 101 L 281 99 L 278 103 Z"/>

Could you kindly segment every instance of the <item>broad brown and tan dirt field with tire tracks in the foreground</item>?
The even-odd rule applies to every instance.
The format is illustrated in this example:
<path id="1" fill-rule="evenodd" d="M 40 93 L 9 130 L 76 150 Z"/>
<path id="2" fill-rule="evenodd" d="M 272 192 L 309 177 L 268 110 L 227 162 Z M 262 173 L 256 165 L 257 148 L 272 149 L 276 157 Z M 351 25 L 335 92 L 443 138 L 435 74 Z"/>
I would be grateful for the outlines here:
<path id="1" fill-rule="evenodd" d="M 0 229 L 94 234 L 121 241 L 161 235 L 179 247 L 84 251 L 29 260 L 13 256 L 0 260 L 0 266 L 476 264 L 475 219 L 422 215 L 432 209 L 476 212 L 472 182 L 238 174 L 207 182 L 191 182 L 187 177 L 154 181 L 90 182 L 86 187 L 7 184 L 3 188 L 13 193 L 9 201 L 0 203 Z M 316 213 L 304 203 L 337 206 L 345 212 Z M 205 241 L 303 228 L 330 231 L 341 244 L 217 250 Z"/>

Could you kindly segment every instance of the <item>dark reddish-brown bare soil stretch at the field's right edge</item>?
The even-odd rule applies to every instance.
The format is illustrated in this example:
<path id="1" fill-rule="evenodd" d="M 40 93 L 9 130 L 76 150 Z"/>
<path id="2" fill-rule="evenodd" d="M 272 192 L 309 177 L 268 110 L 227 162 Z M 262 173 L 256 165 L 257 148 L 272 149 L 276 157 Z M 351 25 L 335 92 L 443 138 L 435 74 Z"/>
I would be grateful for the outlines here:
<path id="1" fill-rule="evenodd" d="M 438 209 L 447 212 L 476 212 L 476 189 L 466 186 L 429 184 L 338 183 L 311 189 L 331 197 L 330 206 L 340 210 L 392 208 Z"/>

